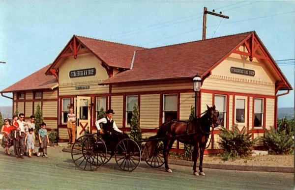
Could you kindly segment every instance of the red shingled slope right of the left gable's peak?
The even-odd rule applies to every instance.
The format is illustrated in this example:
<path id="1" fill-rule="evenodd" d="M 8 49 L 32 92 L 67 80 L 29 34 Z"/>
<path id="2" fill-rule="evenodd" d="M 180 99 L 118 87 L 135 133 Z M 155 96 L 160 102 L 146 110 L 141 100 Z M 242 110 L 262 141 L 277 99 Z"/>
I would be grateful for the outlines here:
<path id="1" fill-rule="evenodd" d="M 76 36 L 76 35 L 75 35 Z M 93 54 L 96 54 L 110 67 L 129 69 L 134 51 L 145 48 L 76 36 Z"/>

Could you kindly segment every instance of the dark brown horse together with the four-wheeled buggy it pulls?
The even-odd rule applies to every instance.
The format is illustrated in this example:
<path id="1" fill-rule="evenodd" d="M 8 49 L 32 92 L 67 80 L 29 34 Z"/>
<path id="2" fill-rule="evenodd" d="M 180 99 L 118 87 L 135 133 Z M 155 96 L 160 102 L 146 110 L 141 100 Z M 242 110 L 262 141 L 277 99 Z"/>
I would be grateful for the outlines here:
<path id="1" fill-rule="evenodd" d="M 168 155 L 175 140 L 194 146 L 193 161 L 194 174 L 200 149 L 200 174 L 202 170 L 203 154 L 210 134 L 210 127 L 218 126 L 219 113 L 215 106 L 207 107 L 204 115 L 191 121 L 172 120 L 163 123 L 156 136 L 141 139 L 139 143 L 126 134 L 122 137 L 115 134 L 87 134 L 79 137 L 72 146 L 72 160 L 83 170 L 96 170 L 108 163 L 112 157 L 119 168 L 124 171 L 133 171 L 144 160 L 151 167 L 160 167 L 165 164 L 166 171 L 172 172 L 168 166 Z M 146 142 L 141 148 L 141 143 Z M 143 154 L 142 154 L 143 152 Z"/>

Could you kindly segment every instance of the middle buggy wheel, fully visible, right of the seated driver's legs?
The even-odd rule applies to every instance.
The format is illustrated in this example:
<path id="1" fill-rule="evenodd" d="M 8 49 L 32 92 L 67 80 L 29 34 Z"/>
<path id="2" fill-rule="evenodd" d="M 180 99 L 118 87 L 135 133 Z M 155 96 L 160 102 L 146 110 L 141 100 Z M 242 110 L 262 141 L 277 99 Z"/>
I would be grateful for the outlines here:
<path id="1" fill-rule="evenodd" d="M 118 142 L 115 151 L 116 163 L 124 171 L 133 171 L 141 160 L 141 150 L 139 145 L 129 138 Z"/>

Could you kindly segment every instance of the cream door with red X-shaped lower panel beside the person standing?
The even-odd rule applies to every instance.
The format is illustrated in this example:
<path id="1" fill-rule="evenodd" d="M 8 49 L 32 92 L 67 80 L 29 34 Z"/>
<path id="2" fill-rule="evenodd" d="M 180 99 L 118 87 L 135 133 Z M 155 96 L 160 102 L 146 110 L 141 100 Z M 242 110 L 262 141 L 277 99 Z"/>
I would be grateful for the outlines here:
<path id="1" fill-rule="evenodd" d="M 90 103 L 91 97 L 77 96 L 77 135 L 83 136 L 86 130 L 90 131 Z"/>

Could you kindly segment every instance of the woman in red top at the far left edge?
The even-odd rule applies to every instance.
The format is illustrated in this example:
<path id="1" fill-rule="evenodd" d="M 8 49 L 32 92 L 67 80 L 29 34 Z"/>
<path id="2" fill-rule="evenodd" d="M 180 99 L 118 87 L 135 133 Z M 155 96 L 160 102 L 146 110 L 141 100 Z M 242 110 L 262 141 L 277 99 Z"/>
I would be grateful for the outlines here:
<path id="1" fill-rule="evenodd" d="M 9 147 L 12 145 L 12 138 L 13 138 L 11 131 L 14 130 L 15 128 L 10 125 L 9 119 L 5 119 L 4 122 L 5 124 L 1 128 L 1 132 L 3 134 L 3 141 L 4 141 L 4 145 L 2 146 L 4 147 L 4 153 L 7 155 L 10 155 Z"/>

